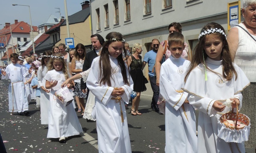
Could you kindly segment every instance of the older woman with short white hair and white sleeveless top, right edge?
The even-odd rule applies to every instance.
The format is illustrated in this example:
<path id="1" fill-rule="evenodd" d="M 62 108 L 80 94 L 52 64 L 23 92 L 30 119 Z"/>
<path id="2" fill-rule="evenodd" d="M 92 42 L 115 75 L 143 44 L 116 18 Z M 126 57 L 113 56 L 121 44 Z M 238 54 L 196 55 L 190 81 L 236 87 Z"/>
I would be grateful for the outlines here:
<path id="1" fill-rule="evenodd" d="M 227 40 L 234 63 L 251 82 L 242 92 L 243 107 L 240 112 L 251 119 L 250 136 L 245 148 L 256 148 L 256 0 L 243 0 L 242 14 L 244 21 L 229 31 Z"/>

